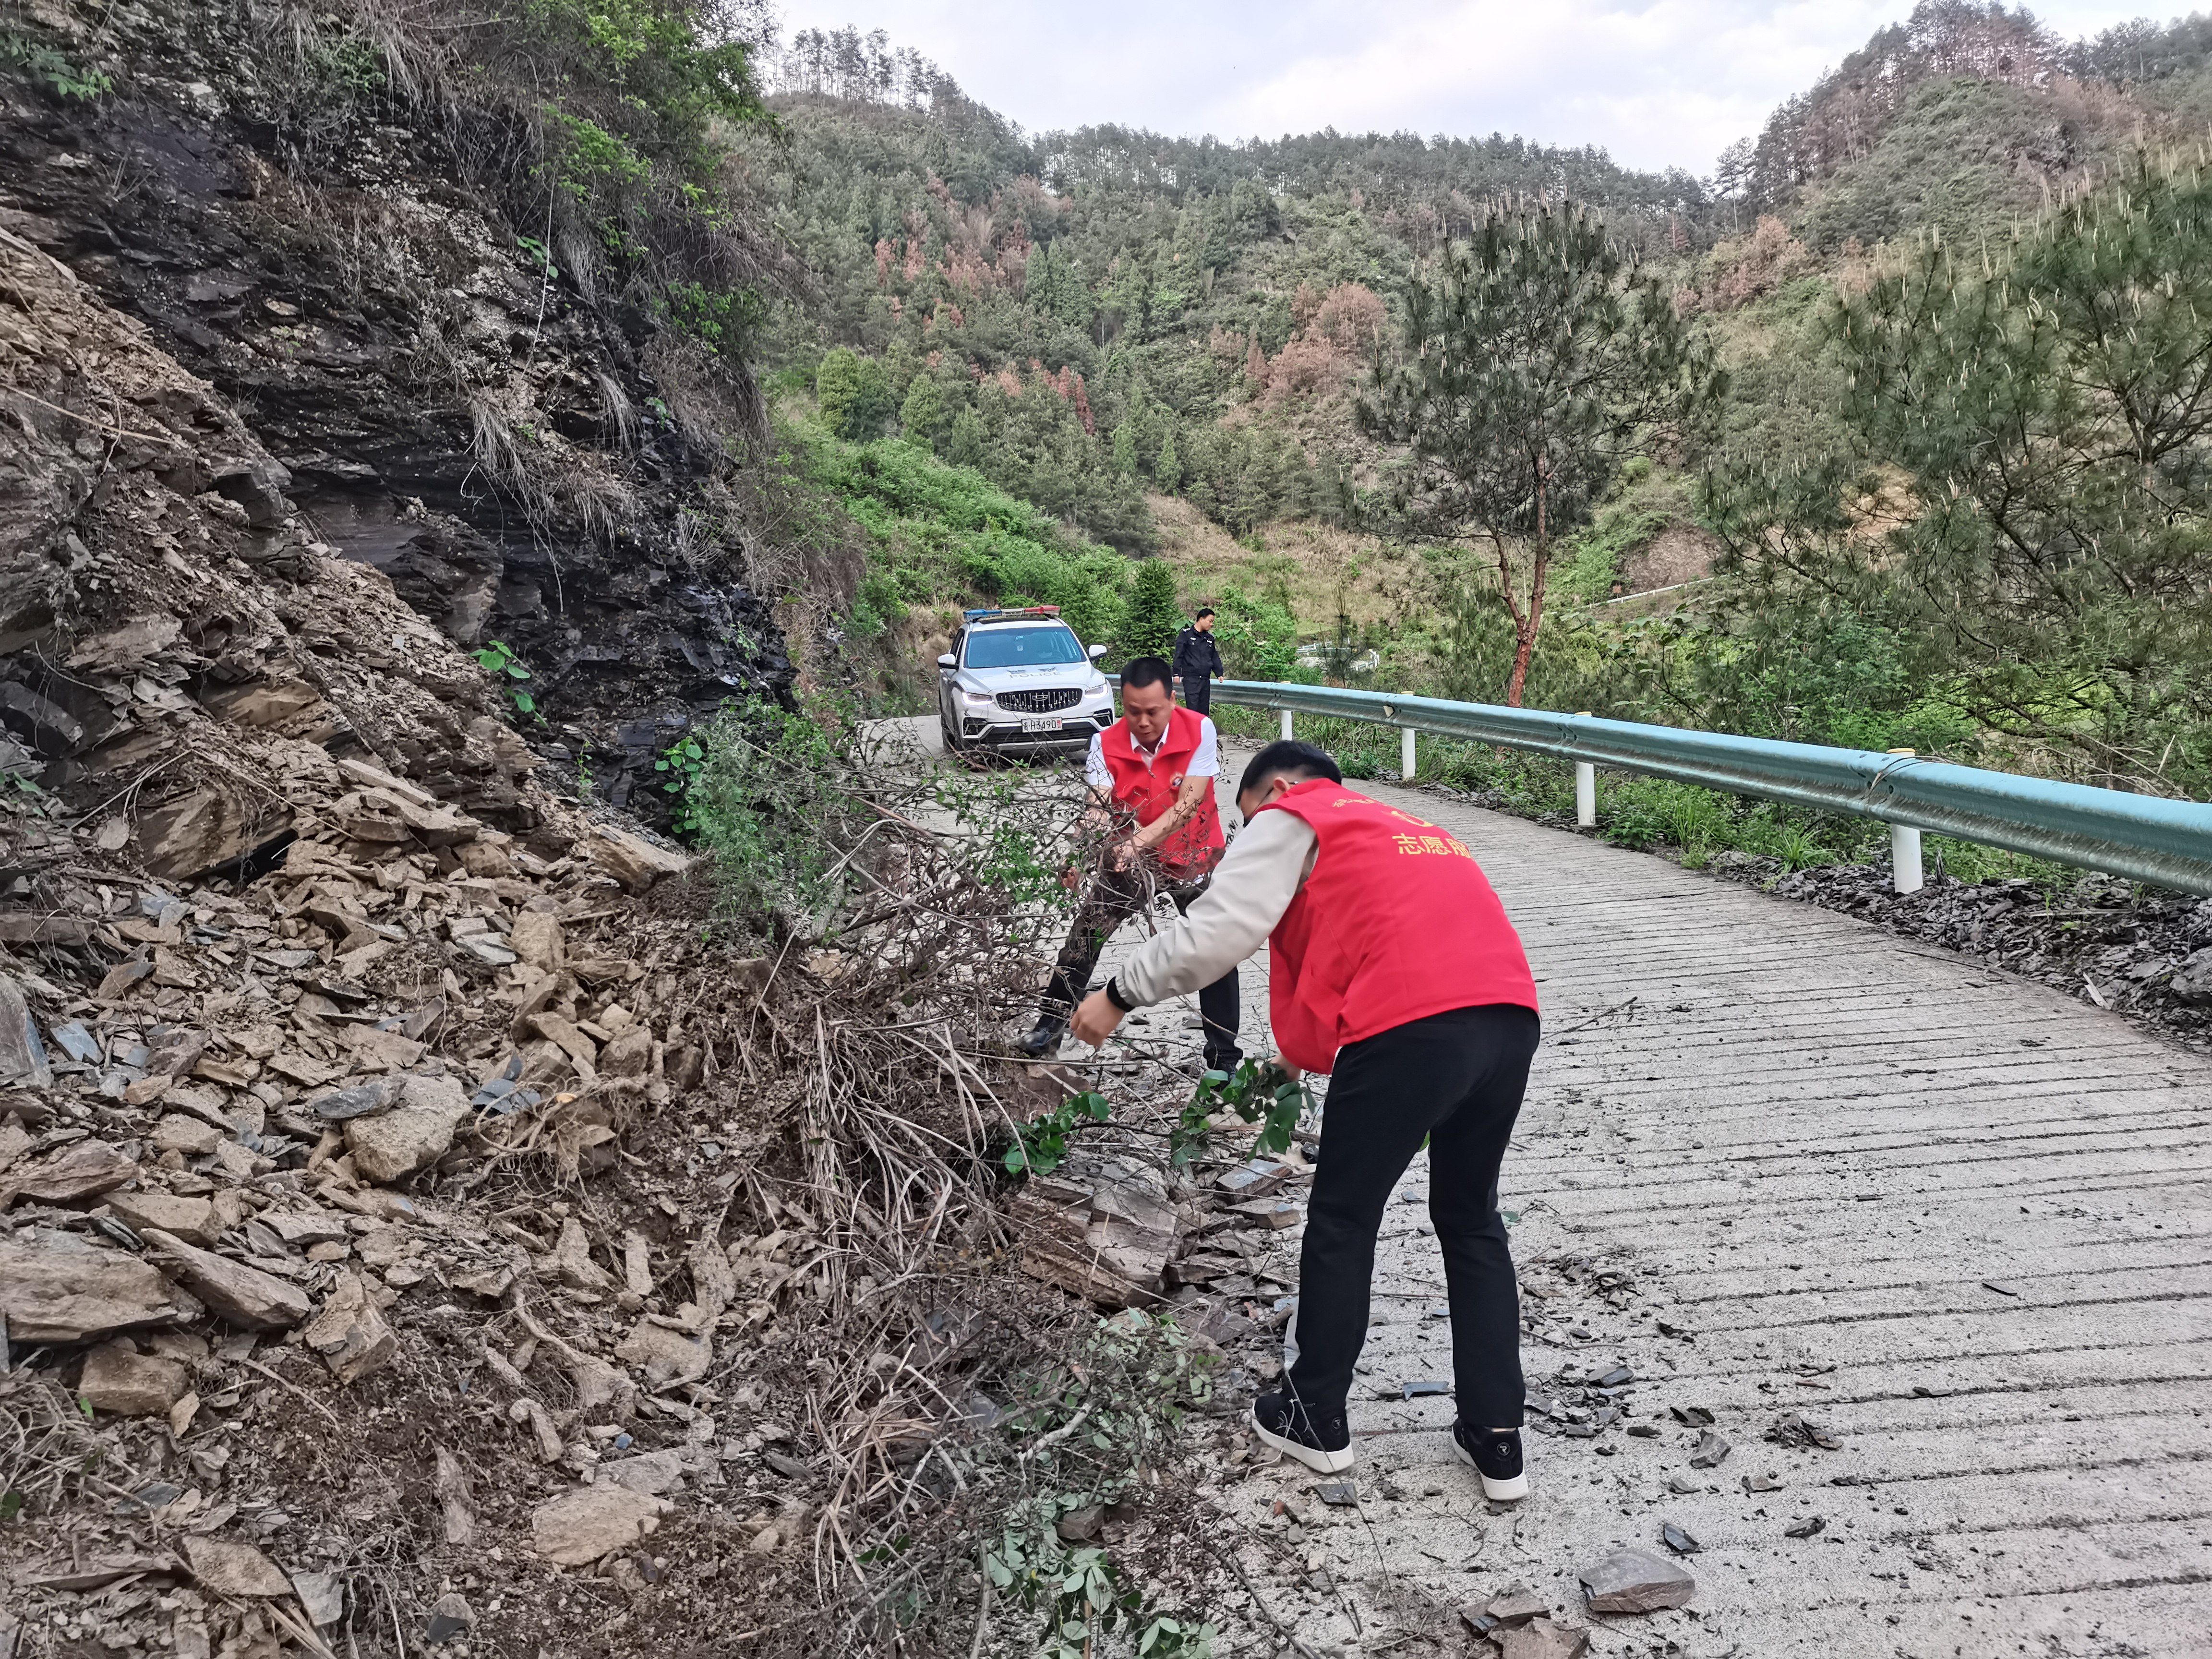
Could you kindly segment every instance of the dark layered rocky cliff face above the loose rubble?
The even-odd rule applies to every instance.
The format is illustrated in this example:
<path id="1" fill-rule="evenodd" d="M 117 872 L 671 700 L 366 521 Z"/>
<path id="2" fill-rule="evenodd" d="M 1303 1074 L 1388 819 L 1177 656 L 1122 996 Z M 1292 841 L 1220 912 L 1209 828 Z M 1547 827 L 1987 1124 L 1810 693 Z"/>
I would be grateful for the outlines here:
<path id="1" fill-rule="evenodd" d="M 582 759 L 617 805 L 692 719 L 787 695 L 728 458 L 748 392 L 588 292 L 575 274 L 588 257 L 518 237 L 467 181 L 469 157 L 502 142 L 493 115 L 420 88 L 361 95 L 389 86 L 396 60 L 316 35 L 305 13 L 44 0 L 29 24 L 111 86 L 73 97 L 35 73 L 0 80 L 0 226 L 206 383 L 175 394 L 190 429 L 144 456 L 164 511 L 241 538 L 248 564 L 312 549 L 376 571 L 445 637 L 507 641 L 549 721 L 522 734 L 566 772 Z M 97 361 L 49 369 L 86 407 L 106 396 Z M 66 502 L 113 493 L 137 442 L 102 436 L 102 420 L 115 427 L 64 422 L 66 458 L 49 460 L 82 476 L 33 482 L 44 504 L 9 524 L 0 555 L 9 679 L 55 706 L 82 701 L 55 657 L 75 648 L 71 604 L 97 591 Z M 18 602 L 18 584 L 38 597 Z M 480 690 L 436 695 L 456 730 L 498 712 Z M 51 721 L 31 726 L 9 721 L 42 752 L 62 743 Z M 383 761 L 462 776 L 405 743 Z"/>

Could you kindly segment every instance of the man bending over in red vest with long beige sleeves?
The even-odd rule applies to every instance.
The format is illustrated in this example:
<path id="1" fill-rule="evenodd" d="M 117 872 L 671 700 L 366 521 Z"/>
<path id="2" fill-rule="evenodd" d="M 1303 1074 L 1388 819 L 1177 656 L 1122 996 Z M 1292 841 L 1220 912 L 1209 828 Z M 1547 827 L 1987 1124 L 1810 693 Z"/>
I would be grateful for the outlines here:
<path id="1" fill-rule="evenodd" d="M 1332 1073 L 1298 1259 L 1296 1360 L 1252 1427 L 1310 1469 L 1352 1467 L 1345 1398 L 1367 1338 L 1383 1206 L 1422 1139 L 1444 1250 L 1460 1420 L 1451 1440 L 1491 1500 L 1526 1498 L 1520 1283 L 1498 1166 L 1535 1055 L 1535 978 L 1464 843 L 1345 787 L 1310 743 L 1245 768 L 1245 827 L 1206 896 L 1088 998 L 1099 1044 L 1130 1009 L 1177 995 L 1267 942 L 1267 1002 L 1287 1066 Z"/>

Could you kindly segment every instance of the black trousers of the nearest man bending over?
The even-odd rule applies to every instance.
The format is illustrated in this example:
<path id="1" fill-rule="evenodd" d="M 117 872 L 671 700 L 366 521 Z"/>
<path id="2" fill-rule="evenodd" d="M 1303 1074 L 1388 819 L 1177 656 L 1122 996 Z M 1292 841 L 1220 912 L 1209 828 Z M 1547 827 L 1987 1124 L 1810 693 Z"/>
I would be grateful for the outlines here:
<path id="1" fill-rule="evenodd" d="M 1528 1086 L 1535 1009 L 1433 1013 L 1336 1055 L 1321 1117 L 1321 1168 L 1298 1259 L 1298 1360 L 1310 1411 L 1340 1411 L 1367 1340 L 1376 1232 L 1391 1188 L 1429 1137 L 1429 1221 L 1444 1248 L 1460 1420 L 1522 1420 L 1520 1281 L 1498 1214 L 1498 1166 Z"/>

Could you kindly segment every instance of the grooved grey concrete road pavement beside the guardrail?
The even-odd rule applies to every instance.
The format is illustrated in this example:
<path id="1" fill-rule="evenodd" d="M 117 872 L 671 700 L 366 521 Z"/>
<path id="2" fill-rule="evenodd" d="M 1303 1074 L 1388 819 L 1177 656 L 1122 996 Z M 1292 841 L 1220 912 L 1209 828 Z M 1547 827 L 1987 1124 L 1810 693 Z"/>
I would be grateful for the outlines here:
<path id="1" fill-rule="evenodd" d="M 1296 1464 L 1221 1495 L 1312 1650 L 1464 1652 L 1451 1610 L 1526 1582 L 1597 1655 L 2212 1655 L 2212 1062 L 1832 911 L 1356 787 L 1467 841 L 1540 978 L 1502 1181 L 1531 1396 L 1559 1413 L 1531 1425 L 1635 1383 L 1595 1438 L 1526 1436 L 1528 1502 L 1482 1502 L 1451 1400 L 1380 1398 L 1451 1374 L 1416 1161 L 1354 1398 L 1360 1506 Z M 1243 987 L 1252 1044 L 1265 960 Z M 1674 1409 L 1712 1413 L 1719 1467 Z M 1783 1413 L 1836 1449 L 1767 1440 Z M 1692 1606 L 1588 1617 L 1575 1568 L 1663 1555 L 1663 1522 L 1703 1546 Z"/>

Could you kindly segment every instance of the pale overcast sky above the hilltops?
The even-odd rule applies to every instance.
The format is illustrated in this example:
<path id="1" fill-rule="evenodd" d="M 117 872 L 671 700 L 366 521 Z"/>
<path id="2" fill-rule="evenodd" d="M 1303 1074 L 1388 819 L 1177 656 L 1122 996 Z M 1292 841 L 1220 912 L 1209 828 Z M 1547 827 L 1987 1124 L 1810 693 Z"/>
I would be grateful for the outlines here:
<path id="1" fill-rule="evenodd" d="M 1911 0 L 783 0 L 783 38 L 885 29 L 1031 133 L 1086 122 L 1219 137 L 1520 133 L 1703 175 L 1728 142 L 1909 11 Z M 2066 35 L 2143 11 L 2035 7 Z"/>

